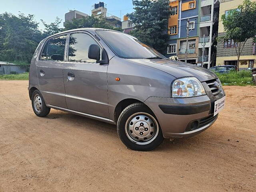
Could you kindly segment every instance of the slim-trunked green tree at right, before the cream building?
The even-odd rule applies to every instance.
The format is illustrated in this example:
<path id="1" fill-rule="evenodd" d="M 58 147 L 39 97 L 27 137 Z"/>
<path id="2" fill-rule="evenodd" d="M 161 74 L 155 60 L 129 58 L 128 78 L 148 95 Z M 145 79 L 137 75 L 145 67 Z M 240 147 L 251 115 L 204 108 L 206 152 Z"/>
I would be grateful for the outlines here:
<path id="1" fill-rule="evenodd" d="M 237 70 L 239 70 L 240 56 L 247 40 L 254 38 L 256 35 L 256 2 L 244 0 L 238 9 L 230 10 L 228 14 L 222 15 L 224 36 L 220 36 L 219 40 L 234 40 L 237 54 Z"/>

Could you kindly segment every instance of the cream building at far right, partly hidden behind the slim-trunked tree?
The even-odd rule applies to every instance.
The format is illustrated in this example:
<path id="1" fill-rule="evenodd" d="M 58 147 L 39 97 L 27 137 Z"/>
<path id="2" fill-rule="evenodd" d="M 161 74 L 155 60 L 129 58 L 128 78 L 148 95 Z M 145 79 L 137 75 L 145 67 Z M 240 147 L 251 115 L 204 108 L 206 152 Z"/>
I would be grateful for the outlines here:
<path id="1" fill-rule="evenodd" d="M 256 0 L 251 0 L 256 1 Z M 242 4 L 242 0 L 222 0 L 220 3 L 220 16 L 228 14 L 229 10 L 238 8 Z M 225 34 L 222 21 L 219 22 L 218 35 Z M 226 42 L 218 42 L 216 65 L 237 65 L 236 44 L 232 39 Z M 245 44 L 243 52 L 240 56 L 239 68 L 256 67 L 256 45 L 252 39 Z"/>

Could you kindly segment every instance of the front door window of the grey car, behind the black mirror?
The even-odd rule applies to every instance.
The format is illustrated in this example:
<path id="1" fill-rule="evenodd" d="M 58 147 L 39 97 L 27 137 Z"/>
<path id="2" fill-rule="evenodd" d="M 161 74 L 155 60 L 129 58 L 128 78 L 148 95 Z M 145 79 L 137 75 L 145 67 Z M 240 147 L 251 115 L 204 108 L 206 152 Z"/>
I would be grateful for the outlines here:
<path id="1" fill-rule="evenodd" d="M 88 58 L 88 50 L 90 45 L 92 44 L 97 45 L 97 42 L 88 34 L 70 34 L 68 46 L 68 61 L 96 63 L 96 60 Z"/>

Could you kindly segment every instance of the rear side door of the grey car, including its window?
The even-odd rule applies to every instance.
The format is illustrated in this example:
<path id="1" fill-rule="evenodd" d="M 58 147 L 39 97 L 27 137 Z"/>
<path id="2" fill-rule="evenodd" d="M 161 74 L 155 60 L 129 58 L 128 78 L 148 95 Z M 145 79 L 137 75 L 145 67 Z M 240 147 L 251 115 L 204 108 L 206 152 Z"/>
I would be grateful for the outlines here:
<path id="1" fill-rule="evenodd" d="M 50 38 L 44 44 L 36 65 L 40 92 L 46 103 L 66 108 L 62 67 L 67 34 Z"/>

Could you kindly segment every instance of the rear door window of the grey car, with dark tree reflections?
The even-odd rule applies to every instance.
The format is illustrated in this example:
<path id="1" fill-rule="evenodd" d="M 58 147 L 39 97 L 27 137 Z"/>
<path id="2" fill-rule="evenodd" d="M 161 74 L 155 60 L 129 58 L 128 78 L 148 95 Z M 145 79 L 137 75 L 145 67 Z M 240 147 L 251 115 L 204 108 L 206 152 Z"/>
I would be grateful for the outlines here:
<path id="1" fill-rule="evenodd" d="M 64 61 L 67 35 L 49 39 L 42 50 L 40 60 Z"/>

